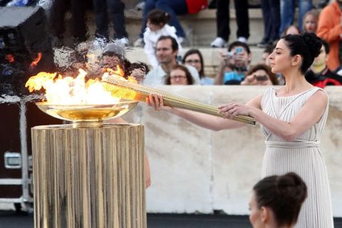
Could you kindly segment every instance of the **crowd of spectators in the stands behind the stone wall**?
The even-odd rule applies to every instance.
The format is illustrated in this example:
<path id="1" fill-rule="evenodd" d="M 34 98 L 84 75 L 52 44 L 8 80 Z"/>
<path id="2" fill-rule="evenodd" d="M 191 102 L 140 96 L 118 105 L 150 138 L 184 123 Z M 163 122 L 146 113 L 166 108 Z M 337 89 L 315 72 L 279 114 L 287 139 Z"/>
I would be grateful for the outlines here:
<path id="1" fill-rule="evenodd" d="M 39 1 L 6 1 L 7 6 L 28 6 L 39 4 Z M 38 3 L 37 3 L 38 2 Z M 4 4 L 3 1 L 1 1 Z M 93 0 L 93 11 L 95 13 L 95 41 L 100 40 L 110 43 L 115 40 L 125 46 L 129 46 L 128 32 L 125 28 L 125 1 L 123 0 Z M 187 67 L 192 81 L 187 84 L 200 85 L 266 85 L 285 83 L 281 75 L 276 75 L 274 81 L 269 73 L 267 56 L 273 52 L 279 38 L 287 34 L 299 34 L 301 32 L 316 33 L 323 38 L 324 47 L 318 60 L 314 62 L 308 71 L 307 79 L 317 85 L 317 80 L 333 78 L 333 83 L 321 83 L 319 85 L 338 85 L 342 74 L 342 0 L 321 0 L 318 6 L 324 7 L 321 12 L 313 9 L 312 0 L 260 0 L 261 12 L 264 19 L 264 37 L 257 44 L 265 48 L 262 53 L 262 61 L 257 66 L 252 66 L 252 52 L 247 44 L 249 38 L 249 3 L 247 0 L 234 0 L 234 9 L 237 16 L 237 41 L 229 43 L 227 51 L 221 51 L 217 59 L 216 76 L 208 77 L 204 73 L 203 53 L 198 49 L 190 48 L 184 56 L 182 53 L 182 42 L 185 40 L 178 15 L 197 14 L 206 9 L 208 5 L 216 8 L 217 37 L 209 45 L 214 48 L 224 48 L 229 41 L 231 33 L 229 28 L 229 1 L 227 0 L 140 0 L 137 9 L 142 11 L 141 32 L 134 46 L 144 46 L 147 61 L 150 65 L 150 73 L 145 83 L 152 85 L 172 85 L 170 77 L 171 69 L 178 65 Z M 294 12 L 298 6 L 299 17 L 294 24 Z M 86 6 L 79 0 L 56 0 L 51 1 L 51 9 L 48 14 L 48 26 L 51 32 L 51 43 L 53 47 L 63 46 L 63 34 L 65 34 L 64 20 L 66 12 L 71 12 L 71 36 L 74 43 L 87 41 L 90 34 L 86 28 Z M 113 24 L 115 33 L 108 33 L 108 19 Z M 163 37 L 160 41 L 160 37 Z M 165 39 L 165 37 L 167 37 Z M 160 47 L 157 46 L 160 43 Z M 165 45 L 167 43 L 167 45 Z M 324 64 L 323 64 L 324 63 Z M 323 64 L 323 65 L 322 65 Z M 319 65 L 319 66 L 318 66 Z M 263 68 L 264 70 L 260 69 Z M 257 77 L 252 71 L 264 71 L 263 77 Z M 186 74 L 187 72 L 185 72 Z M 151 78 L 151 77 L 156 78 Z M 178 77 L 180 78 L 180 77 Z M 319 81 L 318 80 L 318 81 Z M 152 82 L 153 81 L 153 82 Z M 178 80 L 179 81 L 179 80 Z"/>

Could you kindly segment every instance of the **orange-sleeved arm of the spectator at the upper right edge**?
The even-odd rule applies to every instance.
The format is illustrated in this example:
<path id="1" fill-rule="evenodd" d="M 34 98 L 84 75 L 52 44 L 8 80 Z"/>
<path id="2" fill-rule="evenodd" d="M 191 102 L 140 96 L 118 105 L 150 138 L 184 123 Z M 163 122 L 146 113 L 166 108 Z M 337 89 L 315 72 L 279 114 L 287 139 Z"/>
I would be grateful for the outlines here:
<path id="1" fill-rule="evenodd" d="M 318 20 L 317 36 L 323 38 L 327 42 L 340 40 L 342 33 L 341 22 L 333 24 L 333 18 L 329 11 L 322 11 Z M 341 18 L 340 18 L 341 21 Z"/>

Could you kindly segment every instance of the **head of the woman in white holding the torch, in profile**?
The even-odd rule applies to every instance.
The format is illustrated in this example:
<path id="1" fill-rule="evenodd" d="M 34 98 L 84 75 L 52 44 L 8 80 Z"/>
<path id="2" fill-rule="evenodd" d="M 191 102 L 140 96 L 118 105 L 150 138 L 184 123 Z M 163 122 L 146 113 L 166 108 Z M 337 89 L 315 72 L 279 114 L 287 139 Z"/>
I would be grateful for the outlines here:
<path id="1" fill-rule="evenodd" d="M 294 71 L 304 75 L 320 53 L 321 46 L 321 38 L 314 33 L 282 37 L 269 55 L 272 72 L 282 73 L 285 77 Z"/>

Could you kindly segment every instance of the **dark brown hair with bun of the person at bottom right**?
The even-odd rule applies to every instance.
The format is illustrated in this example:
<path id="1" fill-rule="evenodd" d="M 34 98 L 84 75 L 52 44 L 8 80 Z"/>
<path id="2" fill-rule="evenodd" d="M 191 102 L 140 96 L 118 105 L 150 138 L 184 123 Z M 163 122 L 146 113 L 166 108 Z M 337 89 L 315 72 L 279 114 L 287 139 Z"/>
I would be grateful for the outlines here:
<path id="1" fill-rule="evenodd" d="M 258 207 L 269 207 L 280 226 L 296 224 L 307 197 L 304 181 L 294 172 L 265 177 L 253 187 Z"/>

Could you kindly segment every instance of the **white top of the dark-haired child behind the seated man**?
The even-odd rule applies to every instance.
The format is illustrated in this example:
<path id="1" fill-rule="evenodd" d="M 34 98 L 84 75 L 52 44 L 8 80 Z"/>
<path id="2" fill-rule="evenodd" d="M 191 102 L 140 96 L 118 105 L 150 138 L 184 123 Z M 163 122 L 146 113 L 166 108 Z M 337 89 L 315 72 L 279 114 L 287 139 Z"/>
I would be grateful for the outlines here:
<path id="1" fill-rule="evenodd" d="M 157 41 L 160 36 L 172 36 L 178 43 L 178 51 L 181 51 L 182 49 L 180 41 L 178 41 L 178 37 L 176 35 L 176 28 L 174 26 L 165 24 L 165 26 L 160 28 L 160 30 L 158 31 L 151 31 L 150 28 L 146 28 L 144 33 L 144 51 L 153 69 L 156 68 L 159 64 L 157 61 L 157 57 L 155 56 L 155 46 L 157 45 Z"/>

